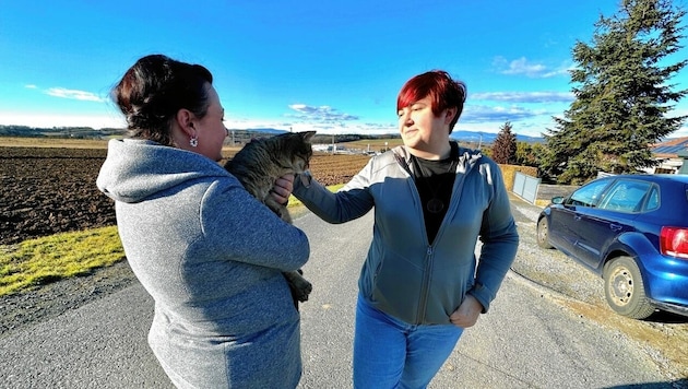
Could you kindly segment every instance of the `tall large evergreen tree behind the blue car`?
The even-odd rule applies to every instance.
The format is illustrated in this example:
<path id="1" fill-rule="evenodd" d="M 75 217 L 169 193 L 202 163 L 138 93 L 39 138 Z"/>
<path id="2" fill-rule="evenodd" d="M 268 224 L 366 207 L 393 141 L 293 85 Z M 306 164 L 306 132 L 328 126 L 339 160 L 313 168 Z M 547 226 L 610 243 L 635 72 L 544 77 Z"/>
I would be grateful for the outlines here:
<path id="1" fill-rule="evenodd" d="M 650 145 L 688 117 L 667 115 L 688 93 L 671 83 L 688 59 L 665 63 L 681 48 L 685 14 L 669 0 L 621 0 L 614 16 L 595 23 L 592 45 L 576 44 L 576 101 L 545 134 L 545 176 L 578 185 L 597 172 L 636 173 L 657 164 Z"/>

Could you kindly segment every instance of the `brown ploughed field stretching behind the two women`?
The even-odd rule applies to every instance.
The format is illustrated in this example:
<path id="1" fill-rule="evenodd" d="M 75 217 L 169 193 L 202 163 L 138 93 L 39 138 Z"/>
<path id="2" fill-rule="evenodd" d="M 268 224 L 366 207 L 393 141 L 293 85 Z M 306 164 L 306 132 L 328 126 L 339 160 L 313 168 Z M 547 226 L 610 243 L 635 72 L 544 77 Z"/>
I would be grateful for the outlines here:
<path id="1" fill-rule="evenodd" d="M 0 245 L 115 225 L 114 202 L 95 186 L 106 153 L 105 149 L 0 146 Z M 324 185 L 342 184 L 368 160 L 359 154 L 316 154 L 310 168 Z"/>

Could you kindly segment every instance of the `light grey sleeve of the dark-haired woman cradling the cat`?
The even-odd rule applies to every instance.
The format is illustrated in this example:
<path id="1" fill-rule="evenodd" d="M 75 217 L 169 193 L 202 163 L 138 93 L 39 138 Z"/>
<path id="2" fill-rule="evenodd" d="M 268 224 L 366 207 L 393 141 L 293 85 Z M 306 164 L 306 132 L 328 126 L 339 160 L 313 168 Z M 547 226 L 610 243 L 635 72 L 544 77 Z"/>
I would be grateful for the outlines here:
<path id="1" fill-rule="evenodd" d="M 234 178 L 213 182 L 201 201 L 203 238 L 216 255 L 281 271 L 308 261 L 306 234 L 282 221 Z"/>

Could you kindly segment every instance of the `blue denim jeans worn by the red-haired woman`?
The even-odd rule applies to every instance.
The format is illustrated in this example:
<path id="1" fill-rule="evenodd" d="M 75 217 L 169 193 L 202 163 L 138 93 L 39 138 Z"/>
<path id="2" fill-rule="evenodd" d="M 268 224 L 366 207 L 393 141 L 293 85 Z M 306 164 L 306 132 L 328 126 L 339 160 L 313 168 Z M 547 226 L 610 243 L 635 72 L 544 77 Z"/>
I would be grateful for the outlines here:
<path id="1" fill-rule="evenodd" d="M 425 388 L 456 345 L 454 325 L 408 325 L 371 307 L 356 305 L 354 388 Z"/>

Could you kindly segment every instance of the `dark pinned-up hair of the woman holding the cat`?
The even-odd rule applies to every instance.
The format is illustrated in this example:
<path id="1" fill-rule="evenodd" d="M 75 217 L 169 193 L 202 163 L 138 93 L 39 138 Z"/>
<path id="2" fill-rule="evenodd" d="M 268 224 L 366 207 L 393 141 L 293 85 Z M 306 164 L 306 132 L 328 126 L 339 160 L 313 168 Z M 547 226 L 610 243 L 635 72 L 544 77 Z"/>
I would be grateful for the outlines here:
<path id="1" fill-rule="evenodd" d="M 127 70 L 111 96 L 127 117 L 130 137 L 174 145 L 169 129 L 179 109 L 199 118 L 207 113 L 205 83 L 212 84 L 213 75 L 204 67 L 151 55 Z"/>

